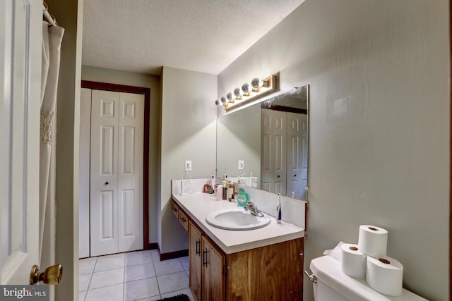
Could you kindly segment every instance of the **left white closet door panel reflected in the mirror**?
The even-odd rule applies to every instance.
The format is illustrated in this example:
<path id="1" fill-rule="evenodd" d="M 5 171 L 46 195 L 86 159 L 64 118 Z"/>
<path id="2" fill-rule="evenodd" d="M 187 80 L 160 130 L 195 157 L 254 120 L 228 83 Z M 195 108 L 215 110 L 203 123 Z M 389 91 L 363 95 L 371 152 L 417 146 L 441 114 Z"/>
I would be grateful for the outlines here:
<path id="1" fill-rule="evenodd" d="M 262 109 L 261 188 L 286 194 L 287 142 L 285 112 Z"/>

